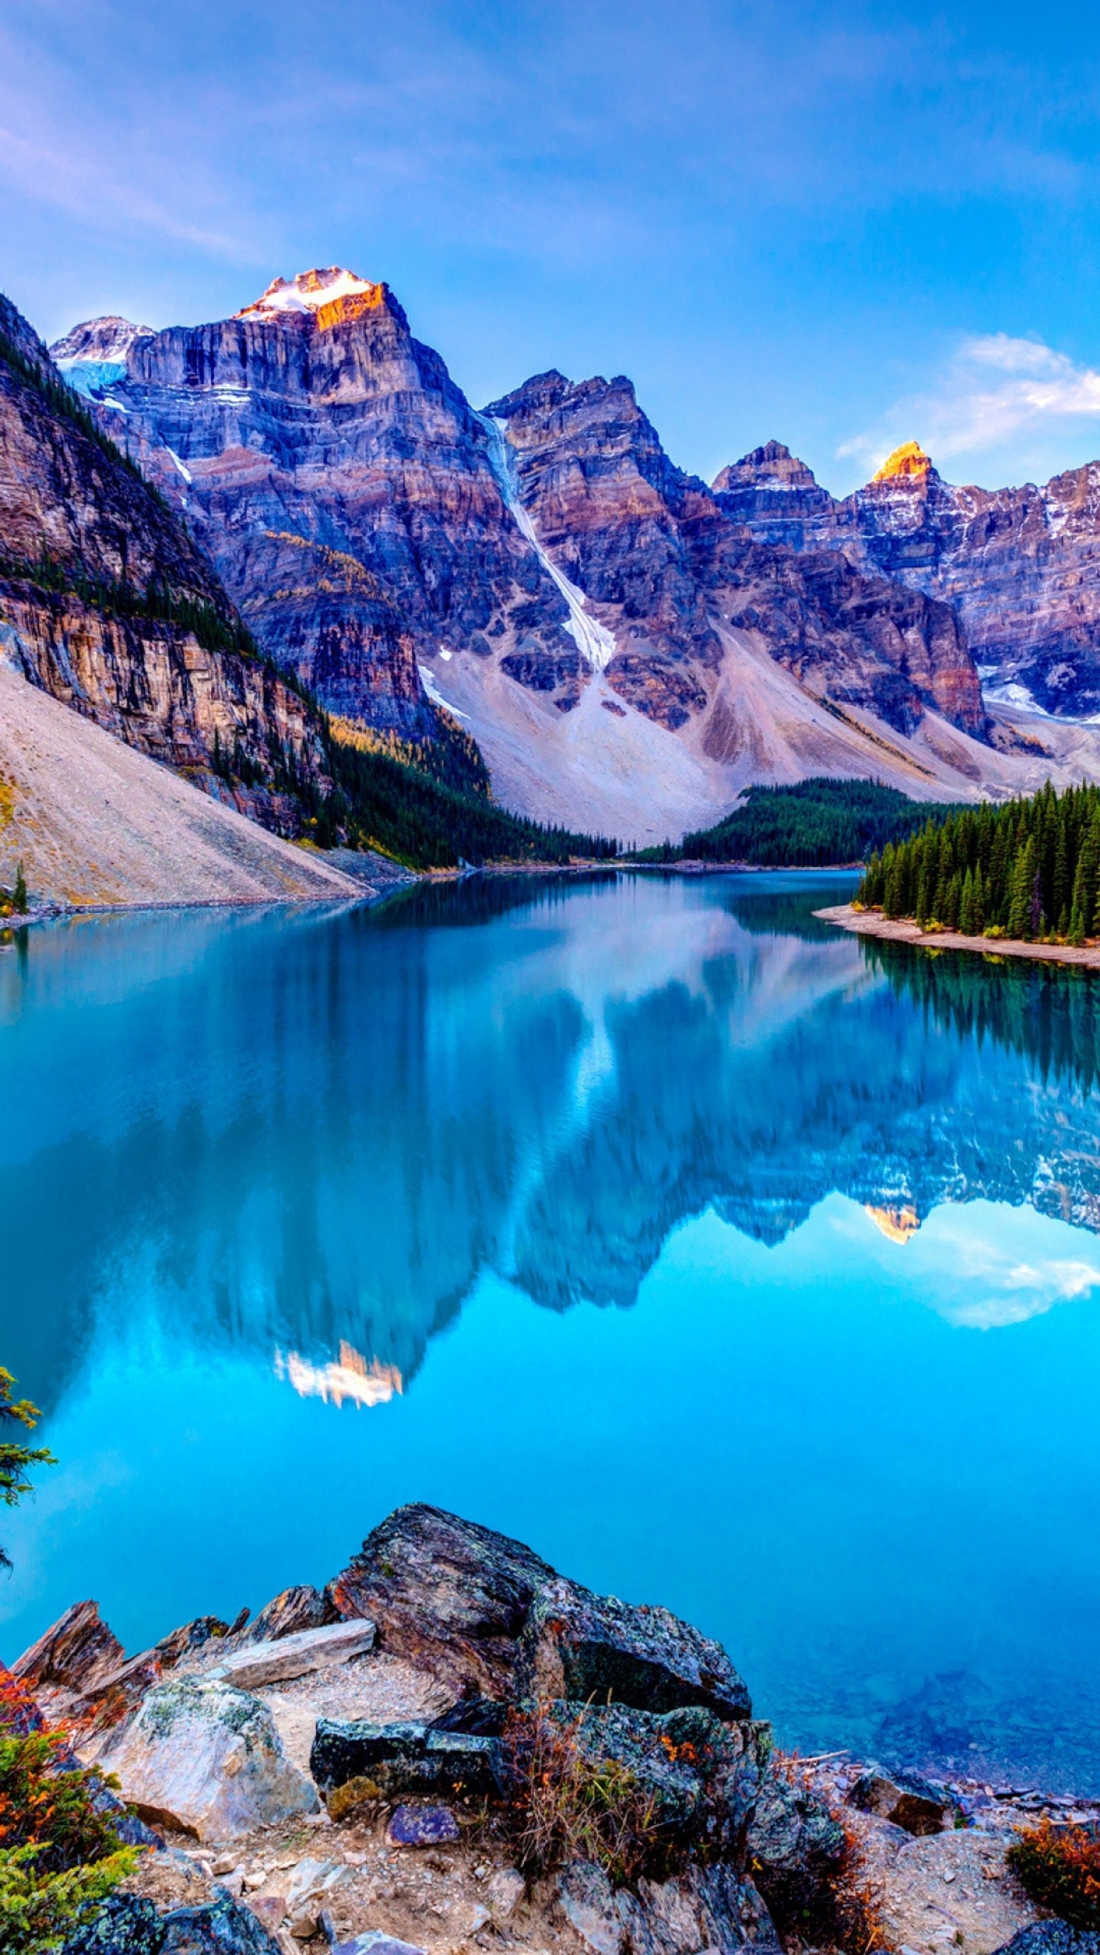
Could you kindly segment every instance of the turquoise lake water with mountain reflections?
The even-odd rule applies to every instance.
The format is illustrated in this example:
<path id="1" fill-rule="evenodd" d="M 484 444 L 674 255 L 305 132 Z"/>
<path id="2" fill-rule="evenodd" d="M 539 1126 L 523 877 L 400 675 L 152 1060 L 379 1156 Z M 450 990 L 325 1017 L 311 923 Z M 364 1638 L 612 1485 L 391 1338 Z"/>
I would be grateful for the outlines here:
<path id="1" fill-rule="evenodd" d="M 0 1654 L 428 1499 L 719 1636 L 803 1750 L 1100 1791 L 1096 979 L 850 880 L 475 880 L 0 954 Z"/>

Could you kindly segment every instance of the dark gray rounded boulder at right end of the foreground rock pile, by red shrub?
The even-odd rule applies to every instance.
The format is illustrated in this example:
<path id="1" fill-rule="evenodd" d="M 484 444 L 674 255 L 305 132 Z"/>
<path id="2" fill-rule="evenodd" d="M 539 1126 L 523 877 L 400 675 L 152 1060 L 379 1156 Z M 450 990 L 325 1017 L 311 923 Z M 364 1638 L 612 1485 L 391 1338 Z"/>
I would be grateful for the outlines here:
<path id="1" fill-rule="evenodd" d="M 746 1834 L 748 1867 L 782 1930 L 826 1930 L 832 1883 L 846 1853 L 844 1828 L 805 1785 L 774 1763 L 764 1771 Z"/>

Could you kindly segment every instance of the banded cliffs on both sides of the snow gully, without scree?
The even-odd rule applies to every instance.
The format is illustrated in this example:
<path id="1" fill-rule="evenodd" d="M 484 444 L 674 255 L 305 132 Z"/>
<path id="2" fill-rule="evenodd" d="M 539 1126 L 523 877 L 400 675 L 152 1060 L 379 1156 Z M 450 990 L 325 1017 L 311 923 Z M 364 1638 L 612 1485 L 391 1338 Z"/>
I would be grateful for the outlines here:
<path id="1" fill-rule="evenodd" d="M 260 643 L 340 712 L 428 731 L 418 665 L 471 653 L 561 712 L 608 665 L 678 731 L 707 712 L 735 624 L 901 731 L 928 706 L 983 731 L 948 612 L 811 571 L 787 538 L 739 540 L 621 377 L 547 373 L 479 416 L 389 287 L 338 268 L 275 280 L 217 325 L 92 321 L 55 352 L 186 510 Z"/>

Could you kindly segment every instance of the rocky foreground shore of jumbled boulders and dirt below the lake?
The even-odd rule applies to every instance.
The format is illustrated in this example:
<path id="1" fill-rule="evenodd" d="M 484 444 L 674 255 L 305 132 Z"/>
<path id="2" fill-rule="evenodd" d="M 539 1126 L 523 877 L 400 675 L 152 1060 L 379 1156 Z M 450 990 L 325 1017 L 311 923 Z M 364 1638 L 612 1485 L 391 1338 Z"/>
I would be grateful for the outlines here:
<path id="1" fill-rule="evenodd" d="M 14 1675 L 117 1777 L 137 1873 L 66 1955 L 1100 1955 L 1006 1847 L 1100 1806 L 780 1754 L 727 1652 L 434 1507 L 326 1589 Z"/>

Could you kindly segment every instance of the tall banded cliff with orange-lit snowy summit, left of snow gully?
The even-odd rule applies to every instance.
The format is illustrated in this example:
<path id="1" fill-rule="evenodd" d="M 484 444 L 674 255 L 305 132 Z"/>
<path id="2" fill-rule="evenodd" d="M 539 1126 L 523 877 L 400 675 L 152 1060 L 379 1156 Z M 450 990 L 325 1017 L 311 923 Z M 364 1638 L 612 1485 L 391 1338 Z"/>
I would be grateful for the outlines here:
<path id="1" fill-rule="evenodd" d="M 418 659 L 574 659 L 490 436 L 387 285 L 328 270 L 234 319 L 92 321 L 70 379 L 186 512 L 260 645 L 324 704 L 430 733 Z M 102 379 L 104 348 L 125 360 Z"/>

